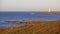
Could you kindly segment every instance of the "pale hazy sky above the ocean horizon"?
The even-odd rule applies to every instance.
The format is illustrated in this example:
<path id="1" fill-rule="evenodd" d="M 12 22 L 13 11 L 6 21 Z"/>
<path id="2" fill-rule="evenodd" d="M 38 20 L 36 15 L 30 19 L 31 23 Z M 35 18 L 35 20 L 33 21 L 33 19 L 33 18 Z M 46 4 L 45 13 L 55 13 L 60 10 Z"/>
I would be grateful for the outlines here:
<path id="1" fill-rule="evenodd" d="M 0 0 L 0 11 L 60 11 L 60 0 Z"/>

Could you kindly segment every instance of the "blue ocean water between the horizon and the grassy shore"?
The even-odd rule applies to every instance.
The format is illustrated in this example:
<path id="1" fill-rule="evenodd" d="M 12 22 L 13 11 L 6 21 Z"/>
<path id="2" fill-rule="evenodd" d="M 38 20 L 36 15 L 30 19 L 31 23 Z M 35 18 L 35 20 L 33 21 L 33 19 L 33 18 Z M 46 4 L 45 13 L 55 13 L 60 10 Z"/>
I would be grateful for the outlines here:
<path id="1" fill-rule="evenodd" d="M 22 20 L 60 20 L 60 14 L 41 14 L 38 12 L 0 12 L 0 28 L 12 26 L 22 26 L 24 24 L 7 24 L 3 21 L 22 21 Z"/>

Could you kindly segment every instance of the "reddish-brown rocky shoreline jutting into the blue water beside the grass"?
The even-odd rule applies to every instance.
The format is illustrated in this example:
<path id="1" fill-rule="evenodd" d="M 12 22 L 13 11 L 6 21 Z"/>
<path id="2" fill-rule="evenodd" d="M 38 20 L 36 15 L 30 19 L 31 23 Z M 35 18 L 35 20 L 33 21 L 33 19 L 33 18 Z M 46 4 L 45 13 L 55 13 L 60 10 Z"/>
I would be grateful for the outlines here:
<path id="1" fill-rule="evenodd" d="M 54 21 L 59 21 L 59 20 L 54 20 Z M 13 24 L 38 24 L 38 23 L 42 23 L 42 22 L 54 22 L 54 21 L 45 21 L 45 20 L 31 20 L 31 21 L 4 21 L 5 23 L 13 23 Z"/>

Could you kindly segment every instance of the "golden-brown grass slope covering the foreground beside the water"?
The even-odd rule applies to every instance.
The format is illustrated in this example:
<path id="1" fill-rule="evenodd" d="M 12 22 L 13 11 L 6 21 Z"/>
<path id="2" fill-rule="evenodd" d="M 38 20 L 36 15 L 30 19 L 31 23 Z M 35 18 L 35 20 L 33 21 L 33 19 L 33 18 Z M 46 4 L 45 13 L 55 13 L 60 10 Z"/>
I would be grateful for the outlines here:
<path id="1" fill-rule="evenodd" d="M 60 34 L 60 20 L 32 21 L 25 26 L 0 29 L 0 34 Z"/>

